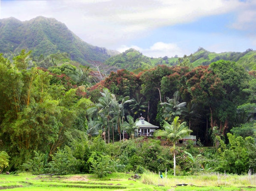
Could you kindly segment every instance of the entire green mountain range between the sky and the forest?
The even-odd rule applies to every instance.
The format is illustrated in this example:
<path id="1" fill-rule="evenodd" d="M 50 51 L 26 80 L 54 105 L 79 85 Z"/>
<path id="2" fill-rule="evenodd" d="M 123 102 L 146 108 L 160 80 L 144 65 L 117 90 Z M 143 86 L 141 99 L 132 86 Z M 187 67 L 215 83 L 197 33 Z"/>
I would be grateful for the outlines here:
<path id="1" fill-rule="evenodd" d="M 21 49 L 32 50 L 30 56 L 36 61 L 42 60 L 42 56 L 45 58 L 59 52 L 67 53 L 70 60 L 83 65 L 104 63 L 113 71 L 128 69 L 135 73 L 162 64 L 198 67 L 219 60 L 235 61 L 247 71 L 256 69 L 256 51 L 252 49 L 245 52 L 215 53 L 200 47 L 191 55 L 176 55 L 172 58 L 163 55 L 160 58 L 150 58 L 135 49 L 119 53 L 90 45 L 78 38 L 64 23 L 54 18 L 39 16 L 24 22 L 14 17 L 0 19 L 0 52 L 5 57 L 12 58 L 13 54 L 18 54 Z"/>

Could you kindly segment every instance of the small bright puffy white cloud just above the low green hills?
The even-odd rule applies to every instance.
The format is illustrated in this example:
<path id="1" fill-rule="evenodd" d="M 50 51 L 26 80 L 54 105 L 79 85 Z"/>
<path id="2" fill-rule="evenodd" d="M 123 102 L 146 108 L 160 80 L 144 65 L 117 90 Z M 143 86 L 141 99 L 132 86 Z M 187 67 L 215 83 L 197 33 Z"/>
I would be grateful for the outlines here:
<path id="1" fill-rule="evenodd" d="M 140 52 L 143 53 L 143 55 L 146 55 L 148 57 L 158 58 L 158 57 L 174 57 L 175 55 L 183 56 L 182 49 L 177 46 L 175 43 L 163 43 L 163 42 L 157 42 L 154 43 L 149 48 L 143 49 L 139 46 L 125 46 L 122 45 L 117 49 L 119 52 L 125 52 L 125 50 L 134 48 Z"/>

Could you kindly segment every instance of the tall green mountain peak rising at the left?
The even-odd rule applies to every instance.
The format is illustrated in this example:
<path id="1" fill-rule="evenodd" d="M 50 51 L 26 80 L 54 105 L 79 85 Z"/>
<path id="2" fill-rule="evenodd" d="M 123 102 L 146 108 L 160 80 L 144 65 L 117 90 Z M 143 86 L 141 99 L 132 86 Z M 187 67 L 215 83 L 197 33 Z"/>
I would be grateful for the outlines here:
<path id="1" fill-rule="evenodd" d="M 33 56 L 67 52 L 81 64 L 104 62 L 119 52 L 92 46 L 74 35 L 64 23 L 54 18 L 36 17 L 20 21 L 14 17 L 0 19 L 0 52 L 32 50 Z"/>

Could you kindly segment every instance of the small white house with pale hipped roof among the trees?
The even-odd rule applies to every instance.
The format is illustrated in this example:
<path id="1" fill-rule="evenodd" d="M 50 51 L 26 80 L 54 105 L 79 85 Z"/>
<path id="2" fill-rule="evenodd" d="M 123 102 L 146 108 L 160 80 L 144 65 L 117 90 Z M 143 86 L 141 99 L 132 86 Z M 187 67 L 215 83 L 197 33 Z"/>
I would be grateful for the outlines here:
<path id="1" fill-rule="evenodd" d="M 139 127 L 138 136 L 153 136 L 153 132 L 158 128 L 158 126 L 145 121 L 143 116 L 140 116 L 136 126 Z"/>

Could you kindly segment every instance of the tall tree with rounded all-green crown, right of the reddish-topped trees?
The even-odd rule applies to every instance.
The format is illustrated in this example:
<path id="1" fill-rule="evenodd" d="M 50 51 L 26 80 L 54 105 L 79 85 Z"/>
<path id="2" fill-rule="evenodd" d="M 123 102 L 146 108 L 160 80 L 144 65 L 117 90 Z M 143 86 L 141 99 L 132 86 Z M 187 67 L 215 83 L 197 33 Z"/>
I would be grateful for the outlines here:
<path id="1" fill-rule="evenodd" d="M 211 126 L 219 127 L 220 133 L 224 135 L 235 120 L 236 107 L 244 102 L 242 90 L 246 87 L 249 75 L 241 65 L 223 60 L 211 63 L 208 70 L 220 78 L 223 84 L 223 99 L 213 112 Z"/>

